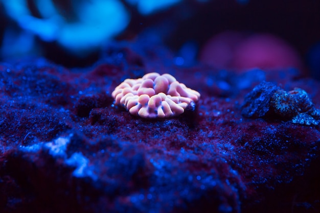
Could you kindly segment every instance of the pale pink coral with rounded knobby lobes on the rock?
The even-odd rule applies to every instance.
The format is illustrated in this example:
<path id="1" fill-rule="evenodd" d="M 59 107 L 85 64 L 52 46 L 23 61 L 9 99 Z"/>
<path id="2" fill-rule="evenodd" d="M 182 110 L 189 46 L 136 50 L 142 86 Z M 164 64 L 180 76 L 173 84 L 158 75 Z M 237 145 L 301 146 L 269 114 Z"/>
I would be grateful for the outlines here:
<path id="1" fill-rule="evenodd" d="M 115 104 L 145 118 L 171 117 L 185 111 L 200 93 L 179 83 L 169 74 L 149 73 L 140 79 L 126 79 L 112 92 Z"/>

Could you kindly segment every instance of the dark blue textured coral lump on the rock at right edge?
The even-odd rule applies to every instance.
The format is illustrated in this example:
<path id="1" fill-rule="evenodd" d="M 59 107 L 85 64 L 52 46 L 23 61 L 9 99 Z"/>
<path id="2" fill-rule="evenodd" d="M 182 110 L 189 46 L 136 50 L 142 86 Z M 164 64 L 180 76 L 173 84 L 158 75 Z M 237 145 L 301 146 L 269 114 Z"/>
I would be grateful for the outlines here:
<path id="1" fill-rule="evenodd" d="M 294 88 L 286 92 L 267 82 L 260 83 L 245 96 L 242 114 L 246 117 L 280 116 L 282 120 L 302 125 L 320 123 L 319 110 L 305 90 Z"/>

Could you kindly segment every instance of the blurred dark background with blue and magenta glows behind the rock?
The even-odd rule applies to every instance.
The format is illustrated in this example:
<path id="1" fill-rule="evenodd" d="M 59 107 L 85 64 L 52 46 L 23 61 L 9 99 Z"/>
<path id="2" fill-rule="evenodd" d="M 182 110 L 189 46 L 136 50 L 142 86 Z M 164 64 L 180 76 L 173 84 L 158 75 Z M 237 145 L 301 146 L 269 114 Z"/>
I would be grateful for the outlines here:
<path id="1" fill-rule="evenodd" d="M 112 42 L 145 39 L 177 65 L 291 67 L 320 80 L 318 0 L 0 0 L 0 11 L 0 61 L 88 66 Z"/>

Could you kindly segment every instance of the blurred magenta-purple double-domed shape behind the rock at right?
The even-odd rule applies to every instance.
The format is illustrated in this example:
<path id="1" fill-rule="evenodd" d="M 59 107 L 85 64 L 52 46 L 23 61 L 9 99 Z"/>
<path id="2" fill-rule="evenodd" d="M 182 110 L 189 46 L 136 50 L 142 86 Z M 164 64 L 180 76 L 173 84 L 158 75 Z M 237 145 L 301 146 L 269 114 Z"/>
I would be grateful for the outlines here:
<path id="1" fill-rule="evenodd" d="M 200 61 L 220 69 L 302 69 L 299 54 L 284 40 L 269 34 L 246 35 L 223 32 L 211 38 L 200 53 Z"/>

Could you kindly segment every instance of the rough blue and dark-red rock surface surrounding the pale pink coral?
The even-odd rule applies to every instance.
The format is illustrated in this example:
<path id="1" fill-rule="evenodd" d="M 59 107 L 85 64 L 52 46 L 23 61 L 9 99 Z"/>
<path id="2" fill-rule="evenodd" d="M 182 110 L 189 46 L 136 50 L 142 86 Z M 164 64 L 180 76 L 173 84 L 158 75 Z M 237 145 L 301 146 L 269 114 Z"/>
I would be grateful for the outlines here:
<path id="1" fill-rule="evenodd" d="M 319 125 L 241 114 L 262 81 L 302 88 L 316 108 L 320 83 L 293 69 L 236 74 L 172 56 L 161 45 L 115 43 L 82 69 L 1 63 L 0 212 L 320 211 Z M 113 104 L 124 79 L 151 72 L 200 100 L 159 120 Z"/>

